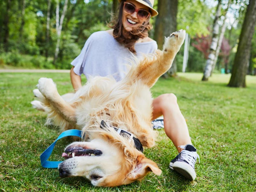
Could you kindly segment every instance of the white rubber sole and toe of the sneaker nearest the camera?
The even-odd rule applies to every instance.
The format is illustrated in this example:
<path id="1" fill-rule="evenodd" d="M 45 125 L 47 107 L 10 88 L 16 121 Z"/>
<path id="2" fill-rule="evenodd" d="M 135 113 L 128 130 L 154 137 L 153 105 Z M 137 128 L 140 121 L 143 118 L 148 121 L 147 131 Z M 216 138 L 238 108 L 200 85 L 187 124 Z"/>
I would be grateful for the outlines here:
<path id="1" fill-rule="evenodd" d="M 169 167 L 170 167 L 170 165 L 169 165 Z M 193 167 L 191 167 L 187 163 L 176 161 L 176 162 L 174 162 L 172 164 L 172 168 L 171 169 L 173 169 L 176 172 L 180 173 L 181 175 L 183 175 L 184 177 L 186 177 L 189 180 L 193 181 L 193 180 L 196 179 L 196 172 L 195 172 L 195 170 L 193 169 Z"/>

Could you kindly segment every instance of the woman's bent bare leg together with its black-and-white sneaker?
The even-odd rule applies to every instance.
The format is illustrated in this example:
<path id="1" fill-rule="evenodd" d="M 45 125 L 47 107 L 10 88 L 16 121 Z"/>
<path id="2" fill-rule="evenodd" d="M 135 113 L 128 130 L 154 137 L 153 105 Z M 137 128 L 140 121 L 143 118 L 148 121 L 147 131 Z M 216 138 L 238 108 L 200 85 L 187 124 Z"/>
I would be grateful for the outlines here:
<path id="1" fill-rule="evenodd" d="M 153 119 L 164 116 L 164 131 L 179 152 L 169 167 L 189 180 L 195 180 L 195 163 L 199 156 L 191 143 L 188 126 L 180 112 L 176 96 L 172 93 L 160 95 L 153 100 L 152 105 Z"/>

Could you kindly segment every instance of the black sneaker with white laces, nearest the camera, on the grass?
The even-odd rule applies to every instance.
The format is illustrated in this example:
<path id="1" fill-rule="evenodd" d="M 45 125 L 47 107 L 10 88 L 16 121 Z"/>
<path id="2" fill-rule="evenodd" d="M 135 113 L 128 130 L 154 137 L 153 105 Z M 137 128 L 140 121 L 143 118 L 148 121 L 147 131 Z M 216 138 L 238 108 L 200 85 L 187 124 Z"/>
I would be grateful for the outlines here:
<path id="1" fill-rule="evenodd" d="M 181 145 L 180 148 L 184 148 L 169 164 L 169 167 L 189 180 L 196 179 L 195 163 L 196 159 L 200 157 L 196 153 L 196 148 L 193 145 L 187 144 Z"/>

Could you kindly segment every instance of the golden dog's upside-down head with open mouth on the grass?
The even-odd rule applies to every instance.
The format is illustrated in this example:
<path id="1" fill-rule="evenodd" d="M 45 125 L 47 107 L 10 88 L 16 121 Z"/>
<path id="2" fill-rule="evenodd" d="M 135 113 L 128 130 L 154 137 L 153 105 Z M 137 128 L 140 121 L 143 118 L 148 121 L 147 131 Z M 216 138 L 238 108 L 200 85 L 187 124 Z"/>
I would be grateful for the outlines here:
<path id="1" fill-rule="evenodd" d="M 141 180 L 150 171 L 156 175 L 162 172 L 136 148 L 103 138 L 71 143 L 62 156 L 66 160 L 59 164 L 60 177 L 82 176 L 94 186 L 125 185 Z"/>

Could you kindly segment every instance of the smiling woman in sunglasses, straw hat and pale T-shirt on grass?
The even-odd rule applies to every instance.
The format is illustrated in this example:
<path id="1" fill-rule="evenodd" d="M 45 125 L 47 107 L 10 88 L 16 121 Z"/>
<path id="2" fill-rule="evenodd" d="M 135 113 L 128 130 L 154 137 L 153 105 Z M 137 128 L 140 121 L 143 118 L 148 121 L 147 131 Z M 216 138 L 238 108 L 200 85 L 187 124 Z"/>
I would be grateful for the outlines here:
<path id="1" fill-rule="evenodd" d="M 125 76 L 123 63 L 141 57 L 142 53 L 154 53 L 156 41 L 148 37 L 152 28 L 150 17 L 158 12 L 153 9 L 154 0 L 119 0 L 120 8 L 112 29 L 93 33 L 81 53 L 71 62 L 70 78 L 75 89 L 82 87 L 81 75 L 112 75 L 117 81 Z M 153 119 L 164 116 L 164 131 L 178 150 L 178 155 L 169 164 L 189 180 L 195 180 L 196 148 L 189 137 L 185 118 L 180 112 L 174 94 L 163 94 L 153 100 Z"/>

